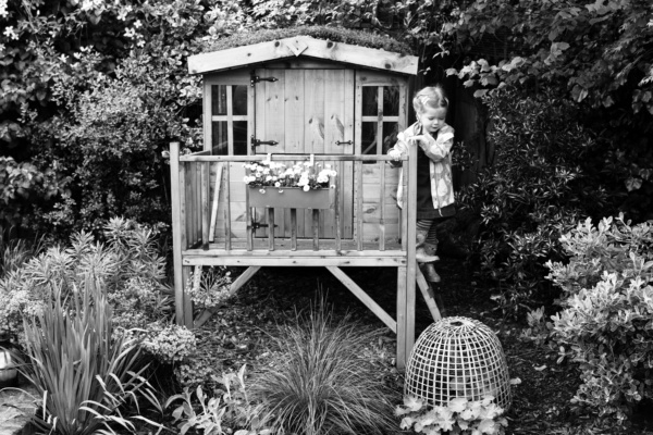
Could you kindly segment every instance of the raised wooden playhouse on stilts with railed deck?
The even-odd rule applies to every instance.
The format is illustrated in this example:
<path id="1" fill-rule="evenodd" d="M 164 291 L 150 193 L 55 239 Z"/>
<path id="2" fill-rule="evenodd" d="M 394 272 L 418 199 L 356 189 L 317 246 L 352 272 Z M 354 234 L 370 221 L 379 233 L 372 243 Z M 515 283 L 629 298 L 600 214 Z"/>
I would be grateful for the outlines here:
<path id="1" fill-rule="evenodd" d="M 324 266 L 397 334 L 403 366 L 415 339 L 416 283 L 440 313 L 415 261 L 416 156 L 403 162 L 408 206 L 396 207 L 398 170 L 386 150 L 406 128 L 418 59 L 297 35 L 188 58 L 201 74 L 205 149 L 171 144 L 176 319 L 194 319 L 184 288 L 194 268 Z M 328 199 L 255 201 L 245 164 L 320 162 L 336 172 Z M 311 192 L 300 192 L 311 195 Z M 267 197 L 271 198 L 271 196 Z M 287 197 L 286 197 L 287 198 Z M 397 268 L 397 312 L 385 312 L 347 266 Z"/>

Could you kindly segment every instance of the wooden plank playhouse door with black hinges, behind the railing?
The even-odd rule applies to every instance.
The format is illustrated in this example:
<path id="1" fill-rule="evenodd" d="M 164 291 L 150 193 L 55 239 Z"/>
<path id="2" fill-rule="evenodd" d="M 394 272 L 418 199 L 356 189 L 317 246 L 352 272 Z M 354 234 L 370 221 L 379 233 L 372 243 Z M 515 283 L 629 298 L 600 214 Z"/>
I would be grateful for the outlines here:
<path id="1" fill-rule="evenodd" d="M 256 153 L 352 154 L 354 153 L 354 71 L 353 70 L 256 70 L 255 136 Z M 259 142 L 260 141 L 260 142 Z M 257 145 L 259 144 L 259 145 Z M 274 145 L 273 145 L 274 144 Z M 341 235 L 353 237 L 352 162 L 334 163 L 341 188 Z M 320 212 L 320 237 L 335 236 L 334 212 Z M 264 210 L 256 210 L 262 223 Z M 289 237 L 289 210 L 276 210 L 274 234 Z M 297 211 L 297 236 L 312 237 L 311 210 Z M 267 236 L 266 227 L 256 235 Z"/>

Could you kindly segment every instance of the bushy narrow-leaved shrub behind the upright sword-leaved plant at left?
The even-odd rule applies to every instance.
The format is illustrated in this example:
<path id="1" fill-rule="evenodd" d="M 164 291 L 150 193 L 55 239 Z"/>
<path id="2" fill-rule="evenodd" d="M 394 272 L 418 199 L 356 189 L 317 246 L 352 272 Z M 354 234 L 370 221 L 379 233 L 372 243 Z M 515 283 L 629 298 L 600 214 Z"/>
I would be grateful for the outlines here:
<path id="1" fill-rule="evenodd" d="M 176 363 L 195 351 L 195 338 L 184 327 L 170 325 L 172 291 L 165 283 L 165 261 L 158 254 L 157 232 L 131 220 L 114 217 L 100 243 L 77 233 L 67 247 L 54 246 L 0 278 L 0 333 L 24 343 L 22 320 L 38 315 L 58 289 L 67 298 L 94 276 L 106 291 L 113 325 L 137 336 L 146 352 L 162 363 Z"/>

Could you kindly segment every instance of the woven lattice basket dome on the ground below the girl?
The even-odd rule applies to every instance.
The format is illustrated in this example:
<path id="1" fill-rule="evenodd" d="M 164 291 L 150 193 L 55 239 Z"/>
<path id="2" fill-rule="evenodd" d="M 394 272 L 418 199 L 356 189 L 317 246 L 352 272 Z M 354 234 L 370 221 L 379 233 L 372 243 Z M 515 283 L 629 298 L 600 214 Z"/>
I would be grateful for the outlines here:
<path id="1" fill-rule="evenodd" d="M 431 324 L 410 352 L 404 394 L 433 406 L 446 406 L 456 397 L 480 400 L 492 395 L 507 410 L 510 383 L 498 338 L 473 319 L 445 318 Z"/>

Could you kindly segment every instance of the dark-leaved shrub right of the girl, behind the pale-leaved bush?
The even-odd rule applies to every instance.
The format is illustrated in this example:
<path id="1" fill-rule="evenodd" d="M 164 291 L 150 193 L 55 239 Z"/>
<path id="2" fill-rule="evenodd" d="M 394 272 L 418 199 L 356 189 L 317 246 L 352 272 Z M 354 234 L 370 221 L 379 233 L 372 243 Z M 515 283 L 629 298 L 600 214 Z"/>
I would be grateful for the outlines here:
<path id="1" fill-rule="evenodd" d="M 485 98 L 493 128 L 493 162 L 460 195 L 480 215 L 472 247 L 493 299 L 508 314 L 551 304 L 547 259 L 562 260 L 558 241 L 580 216 L 606 206 L 599 177 L 586 164 L 595 138 L 574 121 L 575 108 L 546 92 L 505 90 Z"/>

